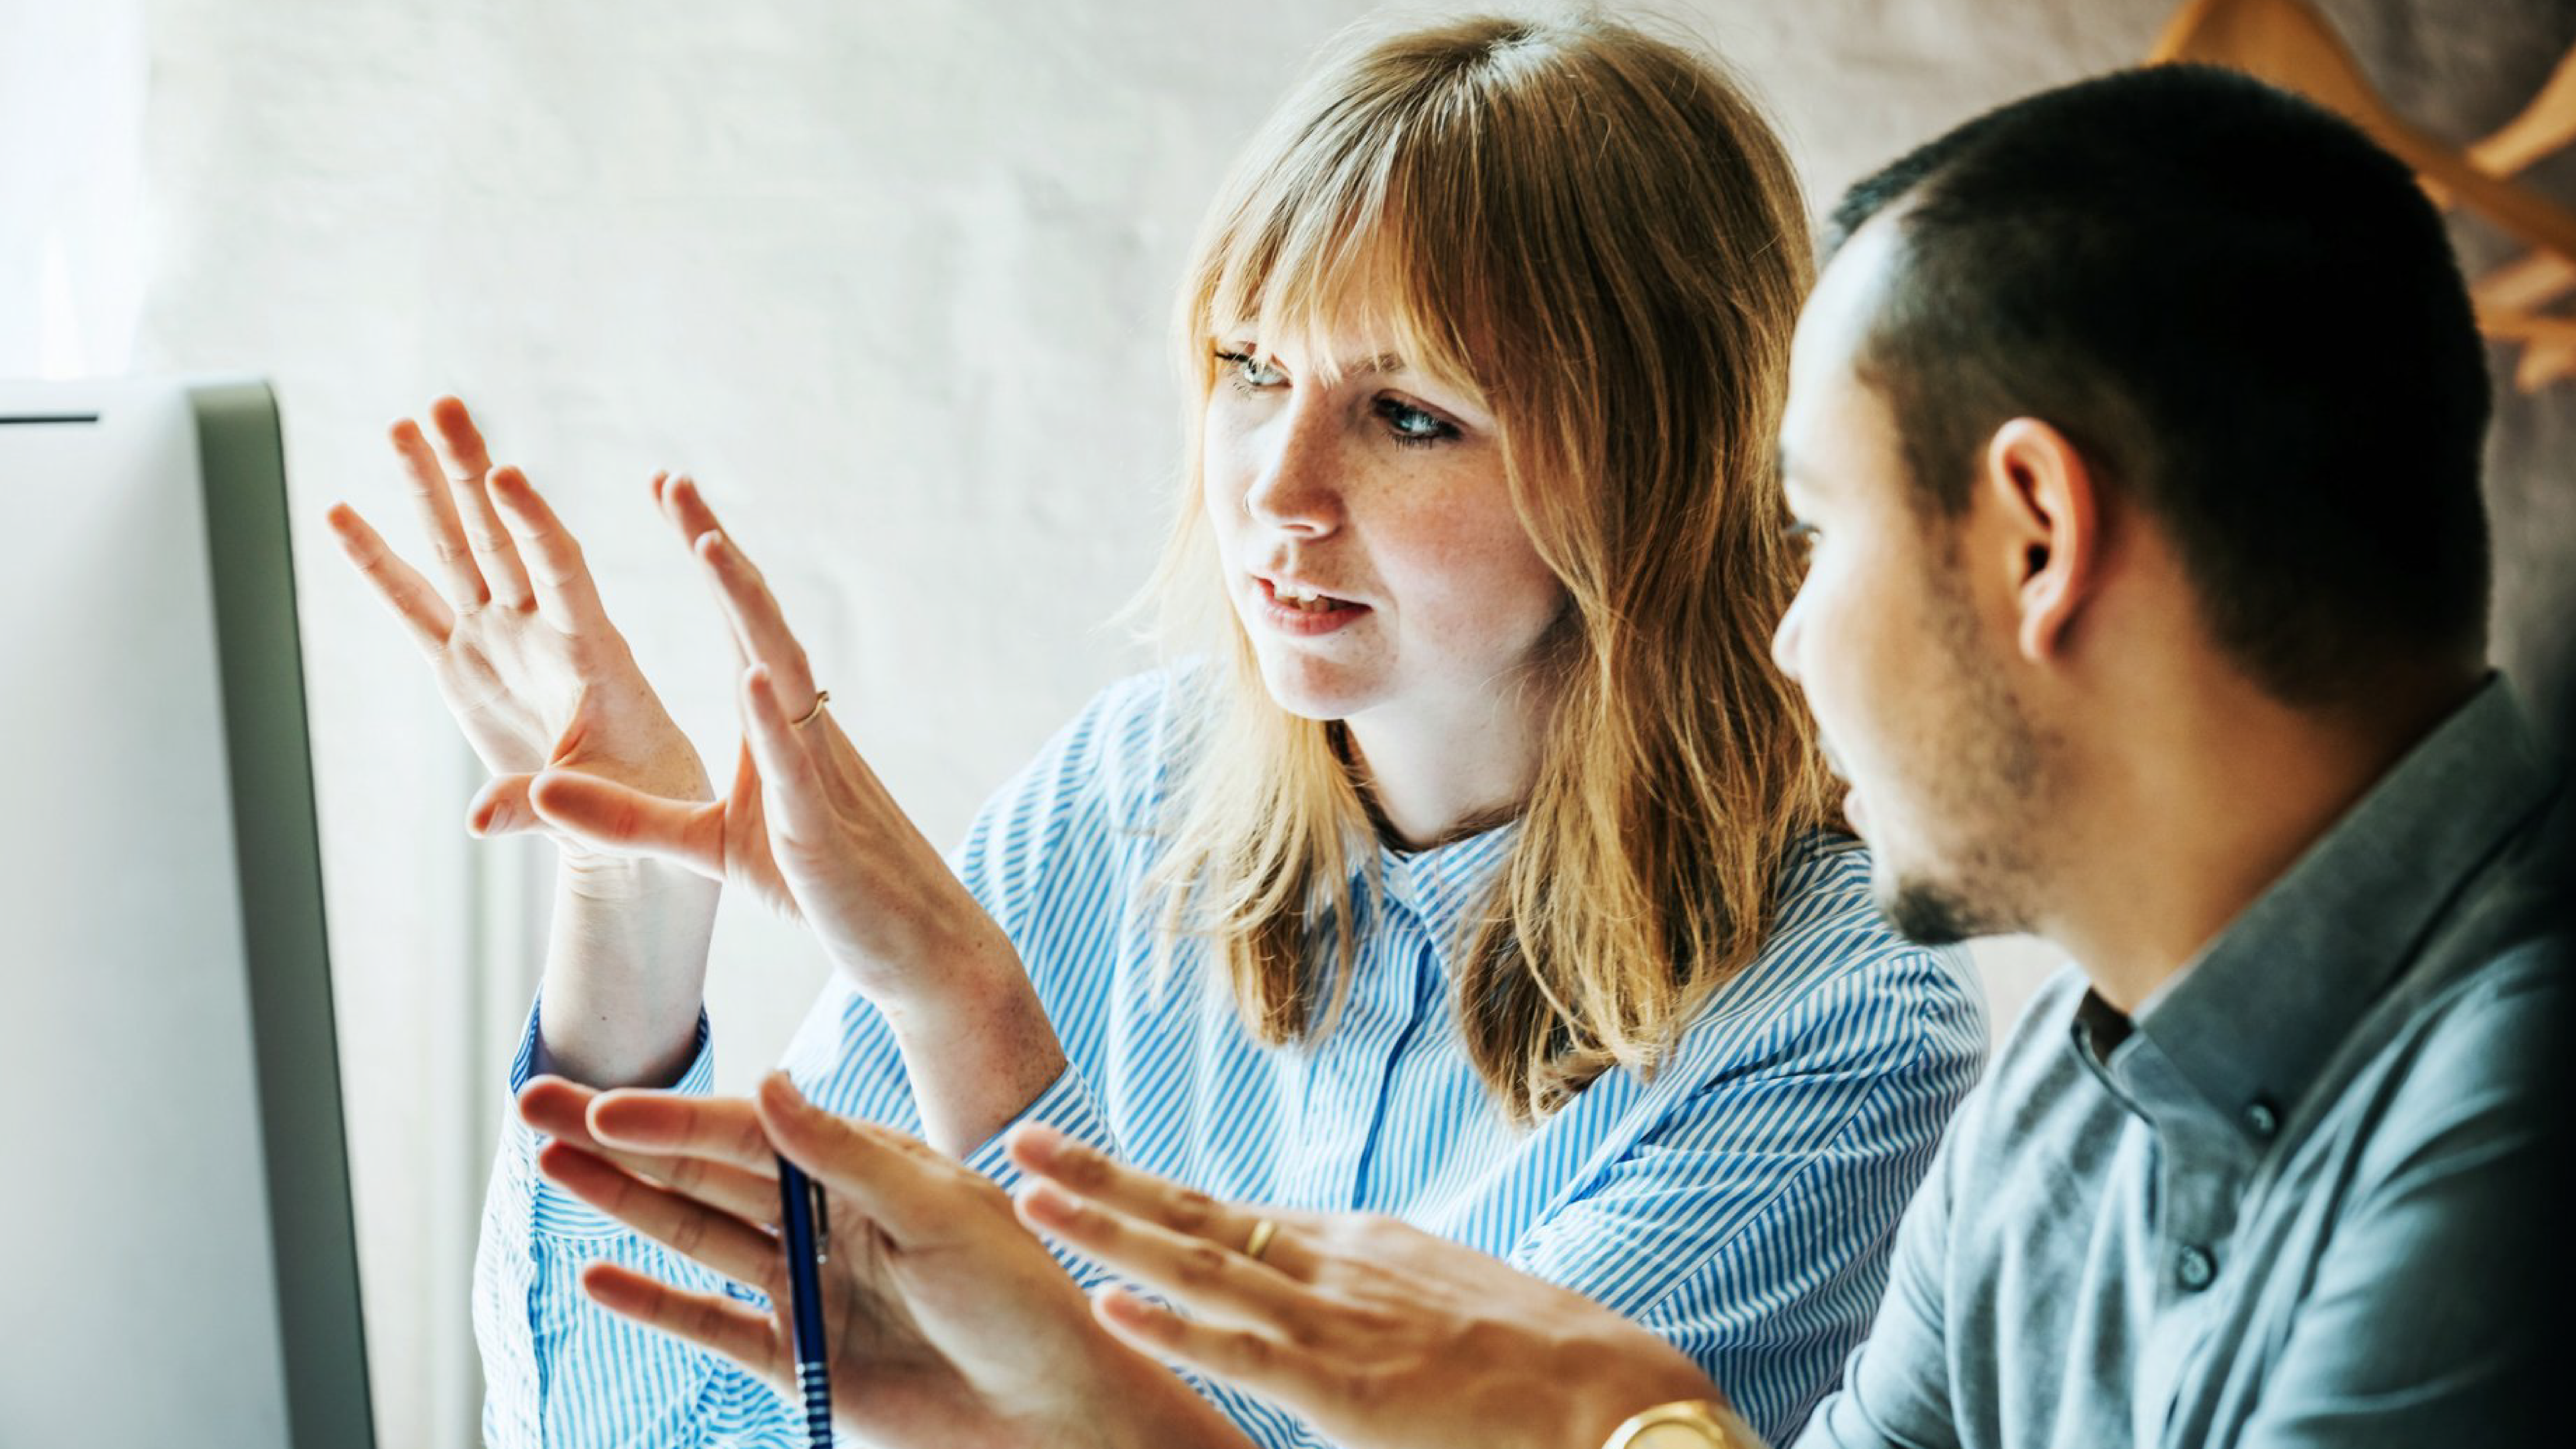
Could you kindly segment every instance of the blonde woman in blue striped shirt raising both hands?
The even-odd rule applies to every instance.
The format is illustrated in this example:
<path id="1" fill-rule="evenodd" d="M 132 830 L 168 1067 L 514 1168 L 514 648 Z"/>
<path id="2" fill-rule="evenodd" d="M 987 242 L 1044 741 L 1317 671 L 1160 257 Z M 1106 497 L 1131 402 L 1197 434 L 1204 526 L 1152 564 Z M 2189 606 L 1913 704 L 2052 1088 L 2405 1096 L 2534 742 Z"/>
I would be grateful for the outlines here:
<path id="1" fill-rule="evenodd" d="M 654 492 L 747 664 L 724 800 L 528 481 L 461 407 L 446 476 L 399 425 L 451 597 L 335 522 L 497 772 L 477 829 L 569 852 L 513 1086 L 703 1086 L 711 896 L 636 860 L 675 862 L 840 965 L 788 1053 L 814 1102 L 1002 1181 L 1002 1127 L 1043 1122 L 1213 1194 L 1401 1217 L 1793 1428 L 1984 1050 L 1960 957 L 1878 924 L 1765 654 L 1806 281 L 1777 139 L 1674 46 L 1461 21 L 1337 57 L 1182 288 L 1195 448 L 1159 597 L 1195 661 L 1100 695 L 953 875 L 693 486 Z M 562 1130 L 549 1091 L 526 1114 Z M 513 1125 L 484 1220 L 495 1441 L 783 1434 L 755 1374 L 585 1313 L 590 1264 L 611 1302 L 719 1279 L 536 1153 Z"/>

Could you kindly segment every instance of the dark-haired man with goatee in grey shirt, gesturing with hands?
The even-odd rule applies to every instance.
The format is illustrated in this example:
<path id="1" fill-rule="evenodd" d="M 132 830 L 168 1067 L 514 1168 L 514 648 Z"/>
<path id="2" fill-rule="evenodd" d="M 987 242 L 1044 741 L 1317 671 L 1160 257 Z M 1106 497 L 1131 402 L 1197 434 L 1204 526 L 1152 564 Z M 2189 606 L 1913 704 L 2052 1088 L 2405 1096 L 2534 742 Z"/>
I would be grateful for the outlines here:
<path id="1" fill-rule="evenodd" d="M 1798 1444 L 2535 1441 L 2568 988 L 2524 870 L 2555 777 L 2483 664 L 2488 389 L 2439 219 L 2342 121 L 2156 69 L 1960 126 L 1855 185 L 1834 239 L 1775 654 L 1888 916 L 2076 965 L 1953 1122 Z M 922 1302 L 956 1297 L 927 1264 L 1025 1259 L 997 1194 L 863 1130 L 824 1153 L 654 1109 L 706 1117 L 662 1148 L 835 1168 L 904 1225 Z M 1043 1130 L 1012 1158 L 1028 1225 L 1193 1310 L 1113 1289 L 1103 1323 L 1350 1444 L 1752 1441 L 1723 1385 L 1473 1251 Z M 657 1318 L 690 1333 L 683 1307 Z M 1162 1390 L 1113 1377 L 1056 1423 L 1149 1441 L 1118 1426 Z"/>

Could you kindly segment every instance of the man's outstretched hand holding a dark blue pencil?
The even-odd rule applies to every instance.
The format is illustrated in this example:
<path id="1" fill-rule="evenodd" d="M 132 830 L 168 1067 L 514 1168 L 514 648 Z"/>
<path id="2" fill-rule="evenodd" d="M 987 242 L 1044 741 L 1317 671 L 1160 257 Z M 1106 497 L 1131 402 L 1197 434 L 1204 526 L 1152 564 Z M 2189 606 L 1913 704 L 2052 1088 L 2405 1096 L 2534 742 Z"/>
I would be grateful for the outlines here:
<path id="1" fill-rule="evenodd" d="M 538 1168 L 639 1233 L 755 1287 L 773 1310 L 616 1264 L 592 1300 L 796 1385 L 775 1235 L 786 1156 L 824 1186 L 832 1405 L 881 1444 L 1170 1444 L 1244 1439 L 1167 1369 L 1092 1323 L 1082 1289 L 1012 1217 L 992 1179 L 884 1127 L 811 1107 L 786 1073 L 752 1102 L 592 1094 L 538 1078 L 520 1114 L 554 1143 Z"/>

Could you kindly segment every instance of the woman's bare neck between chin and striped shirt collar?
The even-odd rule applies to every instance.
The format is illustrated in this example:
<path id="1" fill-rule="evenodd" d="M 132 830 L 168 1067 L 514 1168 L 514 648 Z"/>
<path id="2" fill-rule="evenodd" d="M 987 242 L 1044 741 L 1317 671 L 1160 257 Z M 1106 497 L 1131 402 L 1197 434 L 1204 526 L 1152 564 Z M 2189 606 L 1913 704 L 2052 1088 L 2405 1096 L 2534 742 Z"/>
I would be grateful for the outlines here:
<path id="1" fill-rule="evenodd" d="M 1538 780 L 1543 728 L 1525 692 L 1461 705 L 1406 700 L 1342 721 L 1350 764 L 1396 849 L 1430 849 L 1510 821 Z"/>

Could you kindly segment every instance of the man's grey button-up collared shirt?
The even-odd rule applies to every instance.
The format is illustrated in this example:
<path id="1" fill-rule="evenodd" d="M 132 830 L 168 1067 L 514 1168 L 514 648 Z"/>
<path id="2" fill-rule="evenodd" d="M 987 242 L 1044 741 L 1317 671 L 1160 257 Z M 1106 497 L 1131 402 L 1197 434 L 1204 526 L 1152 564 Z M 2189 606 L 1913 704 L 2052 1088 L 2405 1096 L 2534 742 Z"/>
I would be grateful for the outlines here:
<path id="1" fill-rule="evenodd" d="M 2050 981 L 1798 1444 L 2527 1444 L 2553 790 L 2491 679 L 2136 1022 Z"/>

